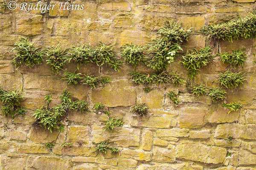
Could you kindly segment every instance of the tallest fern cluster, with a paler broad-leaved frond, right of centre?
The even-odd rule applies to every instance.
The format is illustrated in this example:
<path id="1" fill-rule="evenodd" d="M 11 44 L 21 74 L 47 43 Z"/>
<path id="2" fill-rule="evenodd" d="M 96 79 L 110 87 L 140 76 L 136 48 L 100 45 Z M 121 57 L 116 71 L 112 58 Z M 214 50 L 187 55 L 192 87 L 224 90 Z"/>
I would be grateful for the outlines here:
<path id="1" fill-rule="evenodd" d="M 160 28 L 157 34 L 160 38 L 153 39 L 148 43 L 149 53 L 153 56 L 148 60 L 148 67 L 154 70 L 165 70 L 167 66 L 174 62 L 177 54 L 182 51 L 179 43 L 188 40 L 191 29 L 182 28 L 181 24 L 166 22 L 166 26 Z"/>

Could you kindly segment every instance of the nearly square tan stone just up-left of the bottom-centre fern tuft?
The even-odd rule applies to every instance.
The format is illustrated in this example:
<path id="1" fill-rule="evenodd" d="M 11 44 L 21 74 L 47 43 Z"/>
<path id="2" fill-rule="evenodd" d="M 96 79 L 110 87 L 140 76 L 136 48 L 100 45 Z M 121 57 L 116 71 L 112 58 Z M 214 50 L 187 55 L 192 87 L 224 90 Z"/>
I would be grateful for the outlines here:
<path id="1" fill-rule="evenodd" d="M 90 127 L 88 127 L 88 126 L 68 126 L 67 127 L 67 141 L 81 142 L 81 143 L 89 144 Z"/>

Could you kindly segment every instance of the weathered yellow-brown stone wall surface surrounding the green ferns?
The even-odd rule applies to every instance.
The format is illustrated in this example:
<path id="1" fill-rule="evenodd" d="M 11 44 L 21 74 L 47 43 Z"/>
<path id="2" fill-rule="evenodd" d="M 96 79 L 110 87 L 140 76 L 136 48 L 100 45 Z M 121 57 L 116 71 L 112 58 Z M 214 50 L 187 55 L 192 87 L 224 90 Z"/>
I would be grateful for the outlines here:
<path id="1" fill-rule="evenodd" d="M 30 1 L 29 1 L 30 2 Z M 20 1 L 18 1 L 20 3 Z M 44 3 L 58 3 L 47 1 Z M 40 11 L 1 10 L 0 13 L 0 86 L 20 90 L 25 98 L 22 105 L 28 109 L 25 116 L 14 119 L 0 115 L 0 169 L 1 170 L 252 170 L 256 168 L 256 65 L 253 54 L 255 40 L 213 42 L 200 34 L 200 28 L 209 23 L 230 20 L 237 14 L 244 16 L 256 9 L 255 0 L 76 0 L 84 4 L 82 11 L 58 11 L 57 8 L 41 14 Z M 196 97 L 186 85 L 152 85 L 149 93 L 142 85 L 131 82 L 131 65 L 122 65 L 119 72 L 108 66 L 83 65 L 80 73 L 109 76 L 112 82 L 105 87 L 90 89 L 86 85 L 67 86 L 61 80 L 64 71 L 52 73 L 42 63 L 34 68 L 11 64 L 11 51 L 20 36 L 29 36 L 38 47 L 47 48 L 59 42 L 63 48 L 99 41 L 113 44 L 116 53 L 120 45 L 132 42 L 146 44 L 156 37 L 165 20 L 182 22 L 193 27 L 194 33 L 186 49 L 210 45 L 217 52 L 245 48 L 248 55 L 241 71 L 246 71 L 246 82 L 241 88 L 227 90 L 227 102 L 241 102 L 244 108 L 227 114 L 221 103 L 207 97 Z M 179 74 L 188 82 L 187 71 L 173 62 L 168 71 Z M 206 84 L 218 87 L 218 73 L 227 70 L 216 57 L 191 85 Z M 65 71 L 76 70 L 69 64 Z M 140 66 L 139 71 L 153 72 Z M 124 125 L 113 131 L 103 130 L 108 116 L 103 113 L 69 111 L 64 119 L 64 131 L 50 133 L 35 128 L 34 109 L 46 106 L 46 94 L 53 94 L 51 105 L 58 103 L 58 95 L 68 88 L 72 97 L 86 99 L 90 106 L 102 102 L 111 116 L 122 117 Z M 166 97 L 169 91 L 179 92 L 178 107 Z M 135 101 L 145 102 L 149 111 L 140 117 L 131 113 Z M 225 137 L 233 136 L 228 143 Z M 93 142 L 108 140 L 119 148 L 119 153 L 98 153 Z M 61 146 L 73 142 L 72 147 Z M 56 143 L 47 149 L 45 142 Z M 230 154 L 228 154 L 230 153 Z M 231 156 L 230 156 L 231 155 Z"/>

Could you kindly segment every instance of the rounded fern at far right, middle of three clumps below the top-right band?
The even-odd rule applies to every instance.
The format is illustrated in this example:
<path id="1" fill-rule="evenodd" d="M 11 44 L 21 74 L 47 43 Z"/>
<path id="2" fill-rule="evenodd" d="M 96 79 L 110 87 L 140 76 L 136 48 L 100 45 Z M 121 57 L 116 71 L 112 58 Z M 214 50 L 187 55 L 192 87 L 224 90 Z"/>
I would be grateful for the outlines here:
<path id="1" fill-rule="evenodd" d="M 241 72 L 233 73 L 227 70 L 224 73 L 220 73 L 219 84 L 233 89 L 244 84 L 244 80 L 246 79 L 244 79 L 244 74 L 241 74 Z"/>

